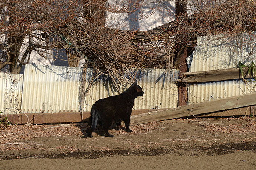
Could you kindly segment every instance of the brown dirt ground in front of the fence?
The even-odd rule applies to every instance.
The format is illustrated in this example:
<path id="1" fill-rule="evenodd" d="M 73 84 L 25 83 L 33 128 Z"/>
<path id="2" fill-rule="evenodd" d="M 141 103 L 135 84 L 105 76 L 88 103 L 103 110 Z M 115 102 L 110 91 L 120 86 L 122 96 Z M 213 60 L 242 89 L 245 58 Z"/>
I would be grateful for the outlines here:
<path id="1" fill-rule="evenodd" d="M 85 134 L 87 123 L 0 126 L 0 169 L 256 169 L 254 118 L 176 119 Z M 84 136 L 85 135 L 85 136 Z"/>

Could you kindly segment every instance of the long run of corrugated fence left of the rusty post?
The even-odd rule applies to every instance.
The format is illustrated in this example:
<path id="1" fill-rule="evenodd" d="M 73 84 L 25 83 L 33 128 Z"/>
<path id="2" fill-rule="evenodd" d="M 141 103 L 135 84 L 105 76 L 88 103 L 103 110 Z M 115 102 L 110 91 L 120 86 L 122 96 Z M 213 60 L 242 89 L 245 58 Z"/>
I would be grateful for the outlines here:
<path id="1" fill-rule="evenodd" d="M 0 112 L 3 112 L 2 114 L 77 112 L 82 69 L 26 65 L 24 75 L 1 73 Z M 86 80 L 91 77 L 92 69 L 88 68 Z M 144 96 L 135 99 L 134 109 L 151 109 L 155 106 L 177 107 L 177 70 L 165 73 L 165 69 L 141 69 L 137 71 L 136 78 L 143 88 Z M 91 106 L 98 99 L 116 94 L 118 93 L 109 79 L 101 76 L 99 82 L 92 86 L 86 96 L 84 111 L 90 111 Z"/>

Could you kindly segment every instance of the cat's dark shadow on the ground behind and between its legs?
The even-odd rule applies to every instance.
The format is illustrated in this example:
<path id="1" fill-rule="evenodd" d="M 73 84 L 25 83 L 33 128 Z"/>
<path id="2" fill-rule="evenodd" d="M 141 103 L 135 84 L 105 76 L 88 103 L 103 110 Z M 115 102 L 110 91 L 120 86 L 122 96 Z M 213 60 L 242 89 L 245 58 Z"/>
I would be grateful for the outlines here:
<path id="1" fill-rule="evenodd" d="M 81 138 L 87 138 L 87 133 L 85 132 L 85 130 L 89 129 L 88 123 L 87 122 L 80 122 L 80 123 L 76 123 L 76 127 L 78 127 L 80 129 L 80 131 L 82 132 L 83 136 L 80 136 Z M 113 125 L 109 128 L 109 130 L 116 130 L 116 126 Z M 120 130 L 125 130 L 124 126 L 120 126 Z M 102 127 L 100 125 L 96 126 L 96 129 L 94 131 L 97 135 L 99 136 L 105 136 L 104 132 L 102 131 Z"/>

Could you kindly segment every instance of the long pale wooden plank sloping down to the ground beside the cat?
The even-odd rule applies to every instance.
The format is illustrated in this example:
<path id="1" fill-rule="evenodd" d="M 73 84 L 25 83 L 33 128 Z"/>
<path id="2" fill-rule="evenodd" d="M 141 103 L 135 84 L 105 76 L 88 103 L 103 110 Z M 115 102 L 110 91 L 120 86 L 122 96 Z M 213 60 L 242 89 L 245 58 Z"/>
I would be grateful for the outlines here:
<path id="1" fill-rule="evenodd" d="M 256 93 L 249 93 L 224 99 L 215 99 L 191 105 L 184 105 L 178 108 L 143 113 L 140 115 L 131 116 L 131 124 L 138 125 L 153 121 L 200 115 L 203 113 L 211 113 L 251 105 L 256 105 Z"/>

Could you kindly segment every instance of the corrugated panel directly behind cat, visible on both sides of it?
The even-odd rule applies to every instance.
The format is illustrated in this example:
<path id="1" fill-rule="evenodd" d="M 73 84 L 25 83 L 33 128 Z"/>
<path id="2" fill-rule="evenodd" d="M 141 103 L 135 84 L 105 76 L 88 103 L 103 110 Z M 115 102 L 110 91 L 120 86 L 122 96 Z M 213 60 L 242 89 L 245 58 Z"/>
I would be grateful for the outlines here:
<path id="1" fill-rule="evenodd" d="M 164 71 L 165 69 L 142 69 L 137 71 L 138 85 L 142 87 L 144 95 L 135 99 L 133 109 L 151 109 L 155 106 L 158 106 L 158 108 L 177 107 L 178 72 L 174 69 L 164 74 Z M 129 85 L 126 86 L 126 88 L 128 87 Z M 118 95 L 118 92 L 112 84 L 102 78 L 98 84 L 90 89 L 86 96 L 85 111 L 90 111 L 92 105 L 98 99 L 113 95 Z"/>

